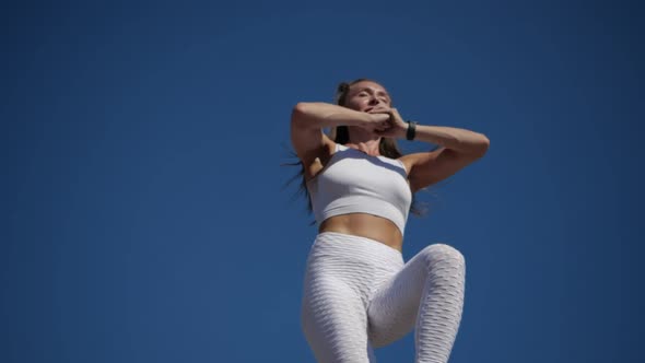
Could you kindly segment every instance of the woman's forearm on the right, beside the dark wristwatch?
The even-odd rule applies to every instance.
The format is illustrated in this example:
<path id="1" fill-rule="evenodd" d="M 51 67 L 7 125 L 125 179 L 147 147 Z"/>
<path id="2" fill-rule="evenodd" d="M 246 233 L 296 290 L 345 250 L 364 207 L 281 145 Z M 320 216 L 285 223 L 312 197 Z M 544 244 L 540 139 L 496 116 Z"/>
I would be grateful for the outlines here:
<path id="1" fill-rule="evenodd" d="M 469 154 L 484 154 L 489 149 L 489 139 L 479 132 L 444 126 L 417 125 L 414 140 L 438 144 Z"/>

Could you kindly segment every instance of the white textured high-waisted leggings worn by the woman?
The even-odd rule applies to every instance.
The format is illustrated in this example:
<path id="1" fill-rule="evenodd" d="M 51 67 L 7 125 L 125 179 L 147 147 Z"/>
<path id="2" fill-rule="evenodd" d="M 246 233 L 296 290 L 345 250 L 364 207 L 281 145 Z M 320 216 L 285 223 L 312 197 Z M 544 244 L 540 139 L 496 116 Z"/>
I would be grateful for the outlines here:
<path id="1" fill-rule="evenodd" d="M 417 362 L 447 362 L 464 307 L 464 257 L 435 244 L 407 264 L 379 242 L 318 234 L 307 259 L 301 321 L 320 363 L 375 362 L 373 348 L 414 328 Z"/>

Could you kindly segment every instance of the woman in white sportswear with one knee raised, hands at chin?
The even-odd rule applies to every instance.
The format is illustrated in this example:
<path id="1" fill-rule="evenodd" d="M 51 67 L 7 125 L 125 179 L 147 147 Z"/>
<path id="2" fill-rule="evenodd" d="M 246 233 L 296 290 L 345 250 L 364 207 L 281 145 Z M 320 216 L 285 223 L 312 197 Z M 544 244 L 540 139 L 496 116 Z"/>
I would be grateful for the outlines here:
<path id="1" fill-rule="evenodd" d="M 406 122 L 385 87 L 366 79 L 341 83 L 337 103 L 298 103 L 291 118 L 319 225 L 304 281 L 305 337 L 319 362 L 360 363 L 414 329 L 417 362 L 447 362 L 461 319 L 464 257 L 436 244 L 403 262 L 404 225 L 412 195 L 481 157 L 489 140 Z M 401 155 L 395 139 L 439 148 Z"/>

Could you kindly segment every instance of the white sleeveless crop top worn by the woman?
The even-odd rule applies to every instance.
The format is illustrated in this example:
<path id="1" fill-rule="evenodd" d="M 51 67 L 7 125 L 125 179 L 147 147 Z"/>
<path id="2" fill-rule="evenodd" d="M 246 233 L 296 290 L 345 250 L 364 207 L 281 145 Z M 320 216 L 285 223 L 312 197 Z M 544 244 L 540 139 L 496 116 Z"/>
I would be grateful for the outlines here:
<path id="1" fill-rule="evenodd" d="M 335 215 L 368 213 L 390 220 L 403 235 L 412 191 L 401 161 L 337 143 L 307 187 L 318 225 Z"/>

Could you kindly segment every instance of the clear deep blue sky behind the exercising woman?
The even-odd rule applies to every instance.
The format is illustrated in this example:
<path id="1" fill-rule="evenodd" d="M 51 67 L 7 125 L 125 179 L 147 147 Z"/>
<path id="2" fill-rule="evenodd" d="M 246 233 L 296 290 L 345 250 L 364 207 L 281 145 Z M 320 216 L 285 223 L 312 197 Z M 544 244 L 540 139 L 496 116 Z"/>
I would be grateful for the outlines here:
<path id="1" fill-rule="evenodd" d="M 404 118 L 491 140 L 419 196 L 431 213 L 403 246 L 466 256 L 450 362 L 642 359 L 637 2 L 34 1 L 0 17 L 1 362 L 314 362 L 316 230 L 280 164 L 293 105 L 362 77 Z"/>

